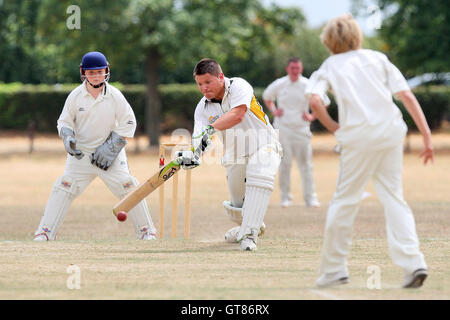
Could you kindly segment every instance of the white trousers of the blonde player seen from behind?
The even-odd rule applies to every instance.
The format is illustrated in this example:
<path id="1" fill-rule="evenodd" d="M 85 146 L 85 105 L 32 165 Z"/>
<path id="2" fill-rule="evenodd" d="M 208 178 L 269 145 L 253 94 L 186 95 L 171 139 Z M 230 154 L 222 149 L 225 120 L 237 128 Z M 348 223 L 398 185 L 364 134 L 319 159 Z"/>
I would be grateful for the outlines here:
<path id="1" fill-rule="evenodd" d="M 386 232 L 392 261 L 405 273 L 426 269 L 419 250 L 414 216 L 403 199 L 403 146 L 362 151 L 343 148 L 340 155 L 336 192 L 328 208 L 320 273 L 345 272 L 353 223 L 361 196 L 372 179 L 384 207 Z"/>

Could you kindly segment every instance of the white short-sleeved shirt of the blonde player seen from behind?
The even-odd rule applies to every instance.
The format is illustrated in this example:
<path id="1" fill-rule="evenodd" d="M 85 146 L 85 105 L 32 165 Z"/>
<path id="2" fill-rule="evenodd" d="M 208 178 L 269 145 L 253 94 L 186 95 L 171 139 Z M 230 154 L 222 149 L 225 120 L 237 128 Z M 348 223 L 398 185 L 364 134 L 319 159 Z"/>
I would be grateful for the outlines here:
<path id="1" fill-rule="evenodd" d="M 384 54 L 359 49 L 330 56 L 309 78 L 305 94 L 326 101 L 327 90 L 338 105 L 335 137 L 343 146 L 376 150 L 402 142 L 407 127 L 392 95 L 410 89 Z"/>

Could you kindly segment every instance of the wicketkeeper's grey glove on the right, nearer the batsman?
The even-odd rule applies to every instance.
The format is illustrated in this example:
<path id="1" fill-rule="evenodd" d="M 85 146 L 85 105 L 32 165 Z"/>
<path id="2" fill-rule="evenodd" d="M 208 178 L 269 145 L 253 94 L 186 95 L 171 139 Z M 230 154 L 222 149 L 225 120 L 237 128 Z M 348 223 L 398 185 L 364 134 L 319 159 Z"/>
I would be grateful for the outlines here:
<path id="1" fill-rule="evenodd" d="M 112 131 L 106 141 L 92 154 L 91 163 L 100 169 L 108 170 L 126 144 L 125 138 Z"/>

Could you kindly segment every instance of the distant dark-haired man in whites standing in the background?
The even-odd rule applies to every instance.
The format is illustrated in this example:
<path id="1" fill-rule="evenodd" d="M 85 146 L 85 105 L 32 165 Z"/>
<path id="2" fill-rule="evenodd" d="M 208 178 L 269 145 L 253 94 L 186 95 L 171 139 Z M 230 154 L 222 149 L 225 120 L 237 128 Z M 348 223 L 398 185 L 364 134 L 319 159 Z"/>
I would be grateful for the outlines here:
<path id="1" fill-rule="evenodd" d="M 315 118 L 309 113 L 305 97 L 308 79 L 302 76 L 303 65 L 297 58 L 289 59 L 286 72 L 286 76 L 272 82 L 263 93 L 264 103 L 275 117 L 273 126 L 279 129 L 283 147 L 283 159 L 278 172 L 281 206 L 285 208 L 292 203 L 291 164 L 292 157 L 295 157 L 306 206 L 317 208 L 320 203 L 314 185 L 310 130 L 310 122 Z"/>

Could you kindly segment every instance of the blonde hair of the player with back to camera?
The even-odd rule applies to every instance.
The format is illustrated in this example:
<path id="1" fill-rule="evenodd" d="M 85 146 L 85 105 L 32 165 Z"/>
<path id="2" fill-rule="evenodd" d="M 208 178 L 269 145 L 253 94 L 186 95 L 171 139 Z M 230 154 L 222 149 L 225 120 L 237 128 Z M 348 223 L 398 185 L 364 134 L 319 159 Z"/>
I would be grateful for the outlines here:
<path id="1" fill-rule="evenodd" d="M 361 48 L 362 31 L 351 14 L 330 20 L 324 27 L 320 40 L 333 54 Z"/>

